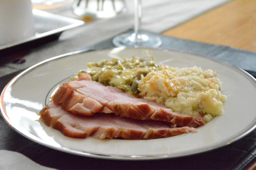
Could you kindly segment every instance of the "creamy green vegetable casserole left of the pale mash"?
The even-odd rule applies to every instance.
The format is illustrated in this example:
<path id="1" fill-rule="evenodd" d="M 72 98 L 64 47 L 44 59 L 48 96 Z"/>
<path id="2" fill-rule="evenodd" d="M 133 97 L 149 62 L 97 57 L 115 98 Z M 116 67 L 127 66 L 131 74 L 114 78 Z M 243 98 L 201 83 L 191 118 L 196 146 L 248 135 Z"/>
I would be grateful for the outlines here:
<path id="1" fill-rule="evenodd" d="M 153 57 L 131 59 L 111 59 L 97 63 L 89 63 L 88 68 L 81 72 L 89 73 L 92 80 L 118 87 L 128 94 L 138 94 L 138 80 L 141 75 L 147 75 L 151 71 L 161 70 L 162 64 L 156 63 Z"/>

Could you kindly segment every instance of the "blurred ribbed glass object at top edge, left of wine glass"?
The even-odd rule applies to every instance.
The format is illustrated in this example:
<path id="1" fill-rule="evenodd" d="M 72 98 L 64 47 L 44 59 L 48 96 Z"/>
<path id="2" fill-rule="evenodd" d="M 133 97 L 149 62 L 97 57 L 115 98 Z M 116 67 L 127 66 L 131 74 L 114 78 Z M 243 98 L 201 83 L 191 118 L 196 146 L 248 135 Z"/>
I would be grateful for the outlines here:
<path id="1" fill-rule="evenodd" d="M 125 0 L 74 0 L 72 8 L 78 16 L 95 18 L 115 17 L 127 11 Z"/>

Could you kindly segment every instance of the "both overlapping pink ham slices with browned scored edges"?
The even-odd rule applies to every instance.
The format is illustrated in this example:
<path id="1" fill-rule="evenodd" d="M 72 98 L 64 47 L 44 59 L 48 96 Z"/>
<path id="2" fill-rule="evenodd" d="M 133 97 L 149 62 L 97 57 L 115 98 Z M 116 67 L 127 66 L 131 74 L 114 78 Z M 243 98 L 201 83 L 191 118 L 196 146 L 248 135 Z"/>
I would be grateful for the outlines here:
<path id="1" fill-rule="evenodd" d="M 197 132 L 205 125 L 200 114 L 181 115 L 92 81 L 86 73 L 63 84 L 39 114 L 46 125 L 73 138 L 156 139 Z"/>

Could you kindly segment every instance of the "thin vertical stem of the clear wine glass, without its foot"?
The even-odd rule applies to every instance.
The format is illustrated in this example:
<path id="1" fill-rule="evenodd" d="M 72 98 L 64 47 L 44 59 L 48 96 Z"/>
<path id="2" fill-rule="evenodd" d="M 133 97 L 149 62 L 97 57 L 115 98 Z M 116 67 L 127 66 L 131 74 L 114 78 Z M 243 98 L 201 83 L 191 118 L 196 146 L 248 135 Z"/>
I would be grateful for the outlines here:
<path id="1" fill-rule="evenodd" d="M 136 40 L 140 40 L 141 17 L 142 17 L 141 0 L 134 0 L 134 33 L 135 33 Z"/>

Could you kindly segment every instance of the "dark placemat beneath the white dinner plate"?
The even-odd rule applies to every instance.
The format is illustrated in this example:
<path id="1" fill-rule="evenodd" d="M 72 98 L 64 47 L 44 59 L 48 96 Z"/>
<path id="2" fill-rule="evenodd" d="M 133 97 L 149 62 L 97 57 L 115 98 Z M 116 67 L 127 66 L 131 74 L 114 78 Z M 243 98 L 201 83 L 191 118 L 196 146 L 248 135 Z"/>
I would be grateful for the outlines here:
<path id="1" fill-rule="evenodd" d="M 250 64 L 255 63 L 256 55 L 253 52 L 160 36 L 163 40 L 162 48 L 194 52 L 222 59 L 230 64 L 239 65 L 241 68 L 250 70 L 249 73 L 254 74 L 255 77 L 255 65 L 251 66 Z M 86 49 L 107 47 L 114 47 L 112 39 Z M 241 64 L 242 60 L 245 60 L 245 64 Z M 2 91 L 5 85 L 19 72 L 20 71 L 0 77 L 0 91 Z M 232 144 L 192 156 L 153 161 L 117 161 L 77 156 L 42 146 L 12 130 L 2 117 L 0 117 L 0 129 L 0 149 L 17 151 L 36 163 L 60 170 L 241 170 L 248 168 L 256 161 L 256 130 Z"/>

